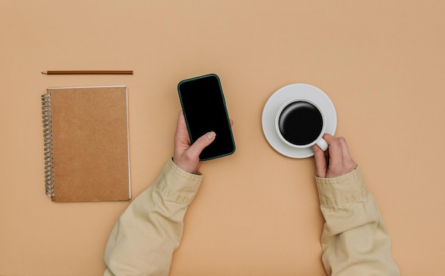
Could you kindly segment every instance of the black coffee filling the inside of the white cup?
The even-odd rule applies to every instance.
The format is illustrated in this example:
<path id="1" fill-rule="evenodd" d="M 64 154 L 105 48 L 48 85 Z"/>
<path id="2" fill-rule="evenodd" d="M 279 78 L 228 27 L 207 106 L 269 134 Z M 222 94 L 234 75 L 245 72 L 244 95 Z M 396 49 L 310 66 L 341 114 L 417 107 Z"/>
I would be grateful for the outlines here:
<path id="1" fill-rule="evenodd" d="M 311 144 L 323 129 L 323 117 L 309 102 L 291 102 L 279 116 L 279 131 L 291 144 Z"/>

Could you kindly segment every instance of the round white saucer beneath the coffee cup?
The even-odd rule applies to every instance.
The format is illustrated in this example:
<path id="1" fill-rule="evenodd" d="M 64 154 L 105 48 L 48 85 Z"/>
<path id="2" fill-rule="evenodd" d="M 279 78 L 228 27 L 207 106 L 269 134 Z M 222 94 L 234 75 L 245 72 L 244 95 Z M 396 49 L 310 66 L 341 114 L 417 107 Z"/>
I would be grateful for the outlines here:
<path id="1" fill-rule="evenodd" d="M 267 142 L 280 154 L 291 158 L 307 158 L 313 156 L 312 147 L 297 149 L 284 143 L 277 134 L 275 118 L 279 108 L 294 98 L 305 98 L 315 102 L 326 117 L 326 133 L 335 134 L 337 128 L 337 113 L 331 99 L 319 88 L 304 83 L 286 85 L 269 97 L 262 113 L 262 127 Z"/>

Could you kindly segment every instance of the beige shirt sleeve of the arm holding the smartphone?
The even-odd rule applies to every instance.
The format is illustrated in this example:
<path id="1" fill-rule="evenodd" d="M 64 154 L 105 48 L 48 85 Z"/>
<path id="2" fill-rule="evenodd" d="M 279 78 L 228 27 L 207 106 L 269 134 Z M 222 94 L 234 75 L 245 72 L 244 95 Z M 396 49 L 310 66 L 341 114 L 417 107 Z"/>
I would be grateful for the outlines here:
<path id="1" fill-rule="evenodd" d="M 202 176 L 173 163 L 122 213 L 109 235 L 104 275 L 168 275 L 183 235 L 183 218 Z"/>

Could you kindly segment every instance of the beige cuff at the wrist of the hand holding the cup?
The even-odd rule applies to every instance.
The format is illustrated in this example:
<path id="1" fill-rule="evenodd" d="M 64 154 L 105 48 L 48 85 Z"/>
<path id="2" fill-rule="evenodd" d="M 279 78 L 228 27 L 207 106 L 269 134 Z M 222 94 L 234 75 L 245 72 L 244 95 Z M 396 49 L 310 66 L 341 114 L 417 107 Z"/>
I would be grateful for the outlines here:
<path id="1" fill-rule="evenodd" d="M 341 207 L 365 201 L 370 196 L 358 167 L 343 176 L 333 178 L 316 176 L 316 185 L 320 204 L 324 207 Z"/>

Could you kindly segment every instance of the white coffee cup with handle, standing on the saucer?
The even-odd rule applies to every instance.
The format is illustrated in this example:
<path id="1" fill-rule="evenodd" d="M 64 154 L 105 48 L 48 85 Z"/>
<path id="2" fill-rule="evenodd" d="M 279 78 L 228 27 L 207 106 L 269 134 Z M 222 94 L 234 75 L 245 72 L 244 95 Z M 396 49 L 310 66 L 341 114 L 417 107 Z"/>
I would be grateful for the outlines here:
<path id="1" fill-rule="evenodd" d="M 275 127 L 280 139 L 290 147 L 307 148 L 317 144 L 323 151 L 328 143 L 323 139 L 326 118 L 318 105 L 306 98 L 285 102 L 277 112 Z"/>

